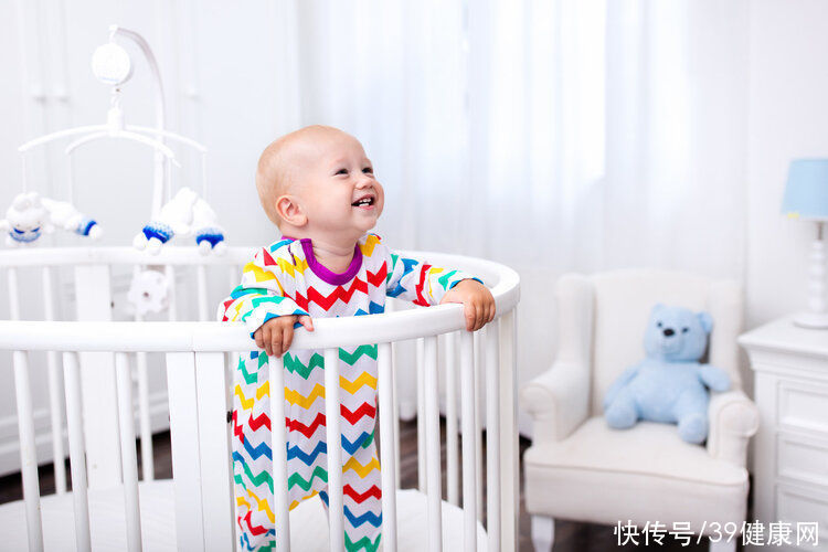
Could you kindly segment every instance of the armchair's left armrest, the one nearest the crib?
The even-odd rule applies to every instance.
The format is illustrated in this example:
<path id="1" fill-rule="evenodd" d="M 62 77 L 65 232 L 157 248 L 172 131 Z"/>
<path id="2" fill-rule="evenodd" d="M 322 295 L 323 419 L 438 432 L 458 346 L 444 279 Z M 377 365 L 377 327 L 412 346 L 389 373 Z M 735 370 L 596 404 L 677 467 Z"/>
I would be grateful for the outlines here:
<path id="1" fill-rule="evenodd" d="M 534 444 L 566 438 L 584 423 L 590 408 L 590 371 L 580 363 L 556 361 L 520 393 L 534 420 Z"/>

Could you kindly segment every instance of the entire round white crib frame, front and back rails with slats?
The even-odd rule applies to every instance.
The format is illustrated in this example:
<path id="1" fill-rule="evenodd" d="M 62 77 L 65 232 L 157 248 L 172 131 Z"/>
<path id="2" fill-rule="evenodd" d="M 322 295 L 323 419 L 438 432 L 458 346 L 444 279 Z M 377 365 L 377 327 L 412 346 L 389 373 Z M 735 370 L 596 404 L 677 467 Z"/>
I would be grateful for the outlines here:
<path id="1" fill-rule="evenodd" d="M 57 353 L 63 357 L 74 523 L 77 550 L 91 550 L 88 488 L 109 484 L 123 485 L 126 508 L 128 550 L 141 550 L 139 481 L 132 417 L 132 385 L 129 354 L 137 354 L 140 406 L 146 405 L 146 354 L 166 354 L 167 385 L 172 443 L 172 485 L 176 497 L 176 534 L 179 550 L 234 550 L 235 505 L 231 460 L 232 426 L 226 413 L 232 408 L 227 380 L 227 353 L 250 350 L 252 340 L 241 323 L 210 322 L 208 267 L 230 268 L 235 285 L 240 267 L 255 250 L 230 247 L 226 255 L 202 256 L 197 247 L 167 246 L 159 255 L 129 247 L 20 248 L 0 251 L 0 267 L 8 273 L 10 320 L 0 321 L 0 350 L 12 351 L 17 412 L 20 432 L 21 474 L 25 503 L 29 550 L 44 549 L 41 496 L 34 439 L 32 396 L 29 370 L 30 351 L 47 351 L 52 434 L 61 435 L 62 407 Z M 395 342 L 417 340 L 417 454 L 420 490 L 427 495 L 428 550 L 442 550 L 440 428 L 438 396 L 438 336 L 446 337 L 446 440 L 447 500 L 458 505 L 457 391 L 460 382 L 460 423 L 463 435 L 463 534 L 464 550 L 478 550 L 477 527 L 482 519 L 481 408 L 485 400 L 487 427 L 487 542 L 490 551 L 518 549 L 518 431 L 517 431 L 517 317 L 520 298 L 518 274 L 511 268 L 471 257 L 431 252 L 401 252 L 405 256 L 427 259 L 473 273 L 490 287 L 497 305 L 495 320 L 475 332 L 465 330 L 460 305 L 385 312 L 382 315 L 316 319 L 315 331 L 298 330 L 293 349 L 325 351 L 327 438 L 339 443 L 339 368 L 338 347 L 378 343 L 378 394 L 382 465 L 383 546 L 396 550 L 396 489 L 399 485 L 399 417 L 394 384 L 393 350 Z M 176 319 L 174 269 L 193 265 L 202 321 L 109 321 L 109 267 L 114 265 L 162 265 L 173 284 L 170 318 Z M 75 296 L 79 321 L 53 321 L 53 269 L 75 269 Z M 44 320 L 20 320 L 18 270 L 41 267 L 43 273 Z M 136 317 L 140 320 L 139 317 Z M 253 344 L 255 347 L 255 344 Z M 459 367 L 455 354 L 459 352 Z M 144 360 L 141 361 L 141 355 Z M 114 369 L 113 369 L 114 368 Z M 269 360 L 272 420 L 284 420 L 282 359 Z M 114 422 L 120 445 L 119 461 L 108 466 L 113 471 L 98 474 L 91 468 L 104 457 L 95 457 L 91 431 L 82 413 L 82 373 L 97 370 L 100 390 L 117 389 L 109 407 L 117 413 Z M 144 378 L 144 388 L 141 386 Z M 485 382 L 485 399 L 480 383 Z M 107 388 L 108 385 L 108 388 Z M 88 388 L 84 388 L 86 390 Z M 276 390 L 276 391 L 274 391 Z M 96 401 L 98 396 L 96 395 Z M 103 405 L 102 407 L 106 407 Z M 141 408 L 139 408 L 141 411 Z M 149 426 L 141 413 L 141 450 L 145 481 L 152 479 Z M 272 450 L 276 519 L 288 520 L 287 459 L 284 424 L 273 424 Z M 150 438 L 148 438 L 150 437 Z M 62 438 L 53 438 L 57 492 L 66 492 Z M 112 456 L 108 457 L 112 461 Z M 119 465 L 118 465 L 119 464 Z M 150 466 L 149 473 L 147 466 Z M 330 549 L 343 550 L 342 481 L 340 449 L 328 455 Z M 97 485 L 87 485 L 87 471 Z M 59 475 L 60 474 L 60 475 Z M 63 475 L 63 477 L 61 477 Z M 95 481 L 92 481 L 95 482 Z M 193 508 L 193 505 L 200 505 Z M 289 550 L 289 522 L 277 527 L 276 550 Z M 450 530 L 450 528 L 449 528 Z M 480 543 L 482 544 L 482 543 Z"/>

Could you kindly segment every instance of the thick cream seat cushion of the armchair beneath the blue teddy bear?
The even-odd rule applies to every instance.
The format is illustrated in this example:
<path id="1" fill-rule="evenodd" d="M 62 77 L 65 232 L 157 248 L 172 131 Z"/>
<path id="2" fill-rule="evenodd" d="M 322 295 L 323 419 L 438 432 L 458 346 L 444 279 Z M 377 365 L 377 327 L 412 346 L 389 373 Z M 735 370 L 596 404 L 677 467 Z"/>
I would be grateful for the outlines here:
<path id="1" fill-rule="evenodd" d="M 619 516 L 640 526 L 683 521 L 704 533 L 704 521 L 745 517 L 747 470 L 684 443 L 669 425 L 618 431 L 594 416 L 563 440 L 533 444 L 523 461 L 530 513 L 608 524 Z"/>

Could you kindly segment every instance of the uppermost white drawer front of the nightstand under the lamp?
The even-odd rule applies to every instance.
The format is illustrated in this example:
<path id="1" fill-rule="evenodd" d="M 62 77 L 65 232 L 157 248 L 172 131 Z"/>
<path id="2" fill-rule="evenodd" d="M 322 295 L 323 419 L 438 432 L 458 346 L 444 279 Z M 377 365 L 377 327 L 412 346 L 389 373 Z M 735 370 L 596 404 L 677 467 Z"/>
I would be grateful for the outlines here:
<path id="1" fill-rule="evenodd" d="M 828 437 L 828 386 L 781 380 L 778 393 L 781 427 L 818 432 Z"/>

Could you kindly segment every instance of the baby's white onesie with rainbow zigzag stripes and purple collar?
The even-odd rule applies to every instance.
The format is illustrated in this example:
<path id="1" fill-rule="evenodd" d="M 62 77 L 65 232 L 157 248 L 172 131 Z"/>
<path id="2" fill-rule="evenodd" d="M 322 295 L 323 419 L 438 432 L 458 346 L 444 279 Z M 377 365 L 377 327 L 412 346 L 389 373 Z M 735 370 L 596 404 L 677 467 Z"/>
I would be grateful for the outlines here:
<path id="1" fill-rule="evenodd" d="M 375 234 L 359 240 L 342 274 L 316 259 L 310 240 L 283 238 L 259 250 L 244 267 L 242 284 L 220 306 L 219 317 L 245 322 L 253 335 L 277 316 L 383 312 L 386 296 L 437 305 L 466 278 L 470 276 L 395 255 Z M 376 344 L 340 348 L 339 361 L 346 549 L 373 552 L 382 524 L 374 445 Z M 319 495 L 327 509 L 323 355 L 291 350 L 284 362 L 289 508 Z M 253 351 L 241 355 L 234 372 L 233 474 L 241 550 L 275 546 L 267 370 L 267 354 Z"/>

